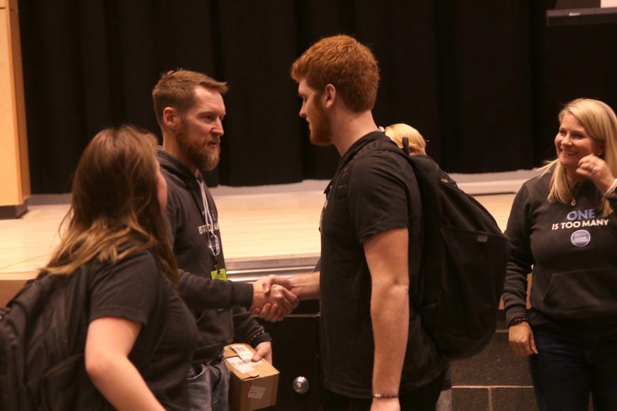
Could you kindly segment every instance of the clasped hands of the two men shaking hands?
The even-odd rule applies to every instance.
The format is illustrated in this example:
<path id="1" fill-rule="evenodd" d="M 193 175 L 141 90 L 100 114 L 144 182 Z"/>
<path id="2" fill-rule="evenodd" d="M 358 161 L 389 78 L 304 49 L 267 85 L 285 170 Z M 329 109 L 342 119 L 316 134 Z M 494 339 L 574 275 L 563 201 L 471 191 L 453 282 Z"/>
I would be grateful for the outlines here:
<path id="1" fill-rule="evenodd" d="M 287 277 L 268 275 L 253 283 L 253 303 L 250 311 L 267 321 L 280 321 L 298 307 L 300 300 Z"/>

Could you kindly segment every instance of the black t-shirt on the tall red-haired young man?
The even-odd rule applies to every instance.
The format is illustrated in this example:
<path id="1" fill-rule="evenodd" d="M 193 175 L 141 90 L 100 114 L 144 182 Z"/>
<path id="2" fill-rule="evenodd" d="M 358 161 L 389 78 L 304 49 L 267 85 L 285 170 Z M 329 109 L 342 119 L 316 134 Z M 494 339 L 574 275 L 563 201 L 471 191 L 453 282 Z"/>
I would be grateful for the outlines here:
<path id="1" fill-rule="evenodd" d="M 322 212 L 322 298 L 324 386 L 348 397 L 370 398 L 374 340 L 370 316 L 371 275 L 363 242 L 388 229 L 410 232 L 410 286 L 415 284 L 422 244 L 418 185 L 409 163 L 397 153 L 372 151 L 348 164 L 367 143 L 389 139 L 382 132 L 356 141 L 344 155 Z M 394 143 L 392 143 L 394 145 Z M 444 370 L 442 358 L 410 308 L 409 338 L 400 390 L 433 381 Z"/>

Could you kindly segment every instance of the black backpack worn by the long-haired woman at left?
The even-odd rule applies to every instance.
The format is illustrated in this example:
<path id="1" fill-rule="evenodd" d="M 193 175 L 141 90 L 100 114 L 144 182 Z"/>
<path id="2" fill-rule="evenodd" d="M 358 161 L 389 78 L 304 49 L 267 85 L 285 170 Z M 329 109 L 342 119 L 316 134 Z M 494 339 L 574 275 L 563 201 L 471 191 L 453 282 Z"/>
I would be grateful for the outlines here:
<path id="1" fill-rule="evenodd" d="M 84 363 L 84 275 L 30 280 L 0 308 L 0 410 L 112 410 Z"/>

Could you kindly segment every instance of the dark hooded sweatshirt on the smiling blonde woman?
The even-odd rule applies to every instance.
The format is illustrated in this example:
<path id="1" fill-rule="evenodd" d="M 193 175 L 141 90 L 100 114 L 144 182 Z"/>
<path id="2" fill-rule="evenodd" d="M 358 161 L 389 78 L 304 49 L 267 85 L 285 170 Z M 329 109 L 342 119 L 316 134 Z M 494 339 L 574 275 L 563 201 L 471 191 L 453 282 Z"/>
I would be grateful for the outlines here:
<path id="1" fill-rule="evenodd" d="M 576 203 L 548 203 L 551 172 L 526 182 L 513 201 L 506 229 L 511 245 L 504 309 L 507 321 L 527 316 L 531 325 L 570 335 L 617 332 L 617 218 L 597 210 L 601 193 L 583 181 Z M 609 197 L 612 208 L 617 198 Z"/>

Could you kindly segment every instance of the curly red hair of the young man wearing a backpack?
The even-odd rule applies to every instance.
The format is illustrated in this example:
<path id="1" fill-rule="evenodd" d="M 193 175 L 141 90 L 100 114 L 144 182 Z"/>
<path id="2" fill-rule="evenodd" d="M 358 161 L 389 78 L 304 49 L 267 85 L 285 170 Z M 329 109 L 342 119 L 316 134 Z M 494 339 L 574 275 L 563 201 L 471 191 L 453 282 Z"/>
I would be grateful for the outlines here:
<path id="1" fill-rule="evenodd" d="M 354 112 L 372 110 L 377 97 L 379 68 L 368 47 L 356 39 L 332 36 L 319 40 L 293 62 L 291 78 L 321 92 L 332 84 Z"/>

